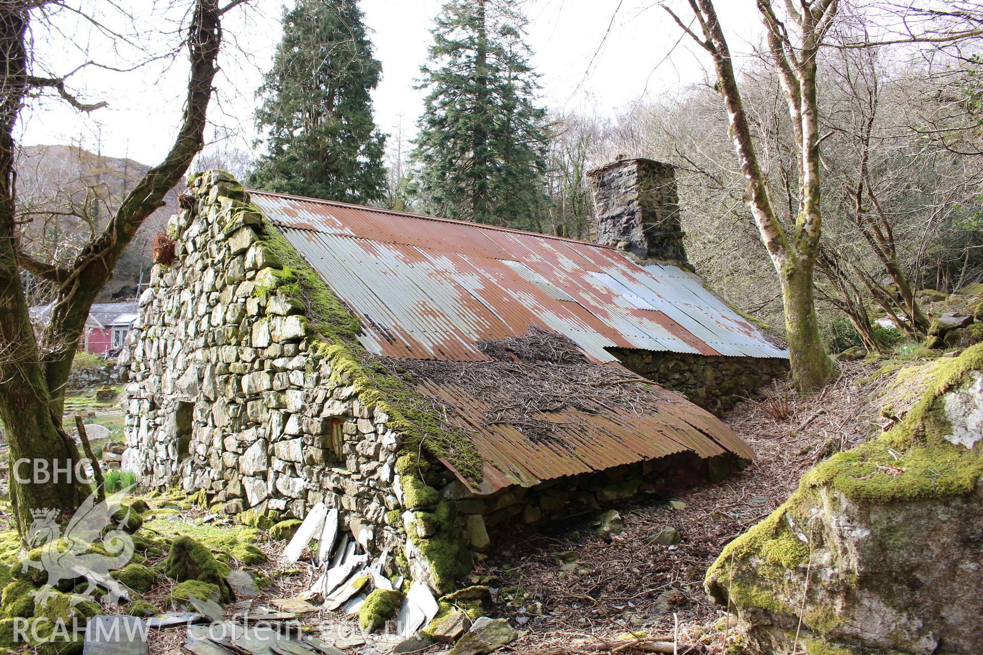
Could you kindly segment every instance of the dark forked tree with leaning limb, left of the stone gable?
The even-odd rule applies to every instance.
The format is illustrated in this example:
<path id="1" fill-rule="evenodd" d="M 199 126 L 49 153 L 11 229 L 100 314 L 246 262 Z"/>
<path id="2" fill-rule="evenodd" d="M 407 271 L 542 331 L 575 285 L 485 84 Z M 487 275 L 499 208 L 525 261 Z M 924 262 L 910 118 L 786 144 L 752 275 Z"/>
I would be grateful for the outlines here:
<path id="1" fill-rule="evenodd" d="M 226 10 L 240 4 L 231 2 Z M 37 3 L 14 0 L 0 6 L 0 418 L 11 445 L 11 498 L 18 529 L 26 532 L 35 509 L 71 514 L 89 493 L 75 475 L 79 450 L 62 429 L 64 392 L 88 311 L 145 218 L 164 204 L 163 197 L 184 177 L 202 148 L 205 111 L 211 96 L 220 42 L 217 0 L 197 0 L 187 33 L 191 76 L 184 120 L 164 160 L 124 198 L 104 230 L 82 247 L 71 262 L 35 259 L 21 248 L 16 201 L 14 130 L 25 98 L 56 91 L 77 110 L 90 112 L 104 103 L 86 104 L 65 89 L 64 78 L 30 75 L 26 38 L 31 9 Z M 22 284 L 22 272 L 52 283 L 56 299 L 48 324 L 34 334 Z M 21 464 L 16 471 L 14 467 Z M 24 464 L 27 462 L 27 464 Z M 33 471 L 46 470 L 35 476 Z"/>

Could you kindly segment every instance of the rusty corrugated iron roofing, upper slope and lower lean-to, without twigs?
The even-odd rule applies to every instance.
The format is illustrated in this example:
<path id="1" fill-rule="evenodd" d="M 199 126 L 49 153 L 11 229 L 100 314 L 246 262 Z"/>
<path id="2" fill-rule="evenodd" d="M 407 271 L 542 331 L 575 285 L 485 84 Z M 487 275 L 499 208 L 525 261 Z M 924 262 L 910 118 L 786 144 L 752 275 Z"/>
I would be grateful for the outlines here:
<path id="1" fill-rule="evenodd" d="M 598 363 L 620 366 L 608 348 L 703 355 L 786 357 L 756 327 L 673 266 L 641 267 L 620 252 L 569 239 L 251 191 L 253 201 L 325 284 L 355 311 L 360 340 L 376 355 L 485 361 L 479 342 L 530 327 L 576 343 Z M 640 380 L 642 378 L 639 378 Z M 535 414 L 555 425 L 549 440 L 489 423 L 465 388 L 418 379 L 418 393 L 457 413 L 483 458 L 479 493 L 693 452 L 751 450 L 709 412 L 681 396 L 605 413 Z M 451 462 L 445 462 L 454 470 Z"/>

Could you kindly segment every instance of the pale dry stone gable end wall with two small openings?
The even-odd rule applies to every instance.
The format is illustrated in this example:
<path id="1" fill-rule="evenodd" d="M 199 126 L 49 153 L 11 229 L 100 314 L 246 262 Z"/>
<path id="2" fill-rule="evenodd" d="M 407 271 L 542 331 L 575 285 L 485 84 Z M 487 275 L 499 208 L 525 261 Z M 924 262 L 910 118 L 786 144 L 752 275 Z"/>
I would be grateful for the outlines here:
<path id="1" fill-rule="evenodd" d="M 347 375 L 313 354 L 307 318 L 275 291 L 286 277 L 259 210 L 228 174 L 194 180 L 171 219 L 176 259 L 155 266 L 121 355 L 128 450 L 145 483 L 204 490 L 230 513 L 303 518 L 338 508 L 376 552 L 404 546 L 386 516 L 402 440 Z"/>

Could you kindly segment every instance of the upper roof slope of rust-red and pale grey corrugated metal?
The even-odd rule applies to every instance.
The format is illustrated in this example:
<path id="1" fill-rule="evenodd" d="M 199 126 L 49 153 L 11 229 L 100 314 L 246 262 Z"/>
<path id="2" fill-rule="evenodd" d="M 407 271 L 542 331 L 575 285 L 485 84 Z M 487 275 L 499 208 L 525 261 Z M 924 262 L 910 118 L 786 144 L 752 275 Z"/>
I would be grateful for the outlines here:
<path id="1" fill-rule="evenodd" d="M 595 244 L 251 191 L 365 325 L 377 355 L 485 359 L 476 342 L 537 326 L 599 362 L 606 349 L 787 357 L 673 266 Z"/>

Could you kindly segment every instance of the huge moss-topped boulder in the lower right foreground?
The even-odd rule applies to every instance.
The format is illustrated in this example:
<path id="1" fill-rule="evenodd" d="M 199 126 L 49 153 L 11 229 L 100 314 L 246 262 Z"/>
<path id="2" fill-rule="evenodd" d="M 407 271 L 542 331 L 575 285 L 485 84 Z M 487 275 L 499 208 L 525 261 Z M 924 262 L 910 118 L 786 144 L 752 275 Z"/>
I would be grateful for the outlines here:
<path id="1" fill-rule="evenodd" d="M 913 372 L 896 425 L 808 471 L 707 573 L 747 652 L 790 652 L 800 619 L 810 654 L 983 652 L 983 345 Z"/>

